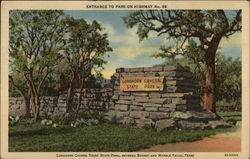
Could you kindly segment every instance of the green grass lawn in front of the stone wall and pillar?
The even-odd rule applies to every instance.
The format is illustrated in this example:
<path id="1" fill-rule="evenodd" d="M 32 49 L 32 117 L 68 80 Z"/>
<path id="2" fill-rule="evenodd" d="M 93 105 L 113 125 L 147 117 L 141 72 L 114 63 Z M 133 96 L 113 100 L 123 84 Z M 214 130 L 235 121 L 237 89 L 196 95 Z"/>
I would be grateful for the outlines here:
<path id="1" fill-rule="evenodd" d="M 151 145 L 195 141 L 233 129 L 167 130 L 139 129 L 103 123 L 72 128 L 20 121 L 9 127 L 10 152 L 131 152 Z"/>

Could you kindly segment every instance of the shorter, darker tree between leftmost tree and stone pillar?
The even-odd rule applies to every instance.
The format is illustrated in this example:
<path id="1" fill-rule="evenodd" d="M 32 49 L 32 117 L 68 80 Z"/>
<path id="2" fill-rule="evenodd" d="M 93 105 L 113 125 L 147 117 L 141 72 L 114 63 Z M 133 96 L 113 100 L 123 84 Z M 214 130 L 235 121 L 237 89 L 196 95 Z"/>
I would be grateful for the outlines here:
<path id="1" fill-rule="evenodd" d="M 75 112 L 77 113 L 82 98 L 84 83 L 91 77 L 93 71 L 98 72 L 106 61 L 103 56 L 112 51 L 108 35 L 102 33 L 103 28 L 97 21 L 88 24 L 84 19 L 68 20 L 68 45 L 64 52 L 63 76 L 69 81 L 67 89 L 67 112 L 73 111 L 71 101 L 76 85 L 79 86 L 79 96 Z M 67 74 L 65 74 L 67 72 Z"/>

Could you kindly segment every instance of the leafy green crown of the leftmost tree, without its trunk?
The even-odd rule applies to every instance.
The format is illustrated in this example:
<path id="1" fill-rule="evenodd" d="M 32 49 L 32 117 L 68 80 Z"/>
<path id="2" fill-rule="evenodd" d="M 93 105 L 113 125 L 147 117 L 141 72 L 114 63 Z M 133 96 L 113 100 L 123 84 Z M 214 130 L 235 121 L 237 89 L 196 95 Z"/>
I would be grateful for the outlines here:
<path id="1" fill-rule="evenodd" d="M 65 27 L 62 11 L 10 11 L 10 67 L 37 76 L 56 65 Z M 38 71 L 38 72 L 36 72 Z M 38 78 L 38 77 L 36 77 Z"/>

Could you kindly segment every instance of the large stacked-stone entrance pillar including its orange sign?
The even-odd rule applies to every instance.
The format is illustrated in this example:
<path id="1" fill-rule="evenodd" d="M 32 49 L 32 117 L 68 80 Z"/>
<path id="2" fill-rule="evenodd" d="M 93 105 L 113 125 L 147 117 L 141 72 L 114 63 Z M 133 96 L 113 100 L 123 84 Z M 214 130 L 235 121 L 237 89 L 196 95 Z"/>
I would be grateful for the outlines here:
<path id="1" fill-rule="evenodd" d="M 182 67 L 118 68 L 105 119 L 139 128 L 205 129 L 228 126 L 200 105 L 192 73 Z"/>

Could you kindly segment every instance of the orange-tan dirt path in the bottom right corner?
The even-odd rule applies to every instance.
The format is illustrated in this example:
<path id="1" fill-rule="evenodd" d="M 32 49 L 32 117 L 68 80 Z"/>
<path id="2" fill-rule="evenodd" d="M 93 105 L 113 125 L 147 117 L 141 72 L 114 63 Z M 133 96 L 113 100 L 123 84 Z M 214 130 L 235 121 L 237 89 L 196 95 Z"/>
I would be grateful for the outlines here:
<path id="1" fill-rule="evenodd" d="M 195 142 L 180 142 L 155 145 L 139 152 L 240 152 L 241 129 L 235 132 L 217 134 Z"/>

